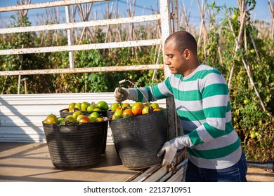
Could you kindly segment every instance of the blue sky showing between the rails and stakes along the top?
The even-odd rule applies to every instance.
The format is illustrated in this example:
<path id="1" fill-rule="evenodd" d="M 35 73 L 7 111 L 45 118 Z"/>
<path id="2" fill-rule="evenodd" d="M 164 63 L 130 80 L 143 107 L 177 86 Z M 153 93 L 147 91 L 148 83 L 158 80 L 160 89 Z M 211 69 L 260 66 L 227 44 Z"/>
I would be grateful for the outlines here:
<path id="1" fill-rule="evenodd" d="M 17 0 L 0 0 L 0 7 L 2 6 L 15 6 Z M 20 1 L 20 0 L 18 0 Z M 58 1 L 58 0 L 31 0 L 31 3 L 44 3 L 48 1 Z M 119 3 L 120 7 L 120 16 L 126 15 L 126 9 L 128 8 L 126 2 L 128 0 L 113 0 L 109 2 L 114 2 L 115 6 L 117 5 L 117 2 Z M 271 3 L 273 0 L 270 0 Z M 131 0 L 133 2 L 133 0 Z M 142 14 L 152 14 L 152 9 L 157 13 L 157 2 L 159 3 L 159 0 L 136 0 L 136 15 L 142 15 Z M 202 1 L 200 1 L 202 2 Z M 213 1 L 207 1 L 207 3 L 212 3 Z M 226 4 L 226 6 L 230 7 L 237 7 L 237 0 L 215 0 L 216 4 L 218 6 L 223 6 Z M 270 10 L 268 7 L 268 0 L 257 0 L 256 1 L 256 7 L 254 9 L 254 13 L 252 14 L 252 20 L 264 20 L 266 22 L 270 22 L 271 16 L 270 16 Z M 190 0 L 178 0 L 179 7 L 184 3 L 185 8 L 189 12 L 191 7 L 191 13 L 190 13 L 190 19 L 193 22 L 197 22 L 197 24 L 200 22 L 200 13 L 199 9 L 197 7 L 197 0 L 193 0 L 193 4 L 191 6 Z M 105 2 L 96 2 L 93 3 L 93 12 L 96 10 L 103 10 L 105 7 Z M 32 25 L 35 25 L 35 20 L 37 20 L 37 15 L 41 15 L 41 13 L 44 13 L 44 9 L 32 9 L 29 10 L 28 18 L 32 22 Z M 60 7 L 60 14 L 63 15 L 63 18 L 65 20 L 65 8 Z M 103 12 L 101 12 L 103 14 Z M 11 21 L 11 15 L 16 15 L 15 12 L 3 12 L 0 13 L 0 27 L 3 27 L 4 24 L 9 24 Z"/>

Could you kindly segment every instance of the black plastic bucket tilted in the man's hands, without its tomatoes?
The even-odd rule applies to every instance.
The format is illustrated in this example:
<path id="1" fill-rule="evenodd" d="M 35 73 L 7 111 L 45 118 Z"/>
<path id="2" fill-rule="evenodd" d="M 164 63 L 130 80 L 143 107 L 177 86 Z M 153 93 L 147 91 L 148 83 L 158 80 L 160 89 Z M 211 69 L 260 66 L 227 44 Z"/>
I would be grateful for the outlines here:
<path id="1" fill-rule="evenodd" d="M 162 162 L 158 151 L 167 141 L 167 110 L 109 120 L 124 167 L 142 169 Z"/>

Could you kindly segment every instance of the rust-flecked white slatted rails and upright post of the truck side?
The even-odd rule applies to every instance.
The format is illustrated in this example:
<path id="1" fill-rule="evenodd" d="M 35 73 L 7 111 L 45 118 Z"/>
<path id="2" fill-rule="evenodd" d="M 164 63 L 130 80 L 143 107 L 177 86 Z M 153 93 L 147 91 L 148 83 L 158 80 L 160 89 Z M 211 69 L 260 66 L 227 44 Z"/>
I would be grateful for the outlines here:
<path id="1" fill-rule="evenodd" d="M 0 71 L 0 76 L 22 76 L 32 74 L 52 74 L 52 73 L 86 73 L 86 72 L 99 72 L 99 71 L 138 71 L 138 70 L 149 70 L 149 69 L 163 69 L 164 76 L 170 75 L 170 71 L 164 64 L 139 64 L 139 65 L 127 65 L 127 66 L 101 66 L 101 67 L 85 67 L 85 68 L 74 68 L 74 62 L 72 59 L 72 52 L 76 50 L 92 50 L 92 49 L 103 49 L 103 48 L 124 48 L 134 46 L 145 46 L 145 45 L 163 45 L 164 40 L 174 31 L 178 31 L 178 0 L 160 0 L 160 13 L 156 15 L 141 15 L 132 18 L 117 18 L 110 20 L 96 20 L 87 22 L 70 22 L 69 6 L 77 3 L 91 3 L 103 0 L 63 0 L 53 1 L 46 3 L 34 3 L 20 6 L 7 6 L 0 7 L 0 13 L 4 11 L 14 10 L 25 10 L 35 8 L 49 8 L 55 6 L 65 6 L 66 10 L 66 23 L 64 24 L 53 24 L 53 25 L 39 25 L 32 27 L 13 27 L 13 28 L 2 28 L 0 34 L 10 34 L 26 31 L 44 31 L 44 30 L 56 30 L 66 29 L 67 30 L 67 45 L 63 46 L 52 46 L 52 47 L 39 47 L 39 48 L 21 48 L 11 50 L 0 50 L 0 55 L 18 55 L 27 53 L 37 52 L 70 52 L 70 68 L 67 69 L 37 69 L 37 70 L 15 70 L 15 71 Z M 147 22 L 147 21 L 160 21 L 162 27 L 162 38 L 151 39 L 151 40 L 138 40 L 138 41 L 123 41 L 119 43 L 93 43 L 85 45 L 74 45 L 70 36 L 70 29 L 76 27 L 90 27 L 98 25 L 115 25 L 122 23 L 131 22 Z M 162 47 L 164 50 L 164 47 Z M 163 52 L 164 53 L 164 52 Z M 176 111 L 174 109 L 174 99 L 167 99 L 167 112 L 168 112 L 168 128 L 169 138 L 174 138 L 180 134 L 177 121 Z"/>

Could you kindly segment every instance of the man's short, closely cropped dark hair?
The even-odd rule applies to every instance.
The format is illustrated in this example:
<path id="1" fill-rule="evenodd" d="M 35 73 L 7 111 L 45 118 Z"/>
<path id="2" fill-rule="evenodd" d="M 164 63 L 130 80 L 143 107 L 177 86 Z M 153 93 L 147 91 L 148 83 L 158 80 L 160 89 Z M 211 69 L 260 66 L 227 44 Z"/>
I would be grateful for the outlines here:
<path id="1" fill-rule="evenodd" d="M 197 42 L 192 34 L 190 34 L 188 31 L 177 31 L 174 34 L 171 34 L 165 41 L 167 43 L 168 41 L 174 40 L 175 48 L 179 52 L 183 53 L 185 49 L 190 50 L 195 55 L 197 55 Z"/>

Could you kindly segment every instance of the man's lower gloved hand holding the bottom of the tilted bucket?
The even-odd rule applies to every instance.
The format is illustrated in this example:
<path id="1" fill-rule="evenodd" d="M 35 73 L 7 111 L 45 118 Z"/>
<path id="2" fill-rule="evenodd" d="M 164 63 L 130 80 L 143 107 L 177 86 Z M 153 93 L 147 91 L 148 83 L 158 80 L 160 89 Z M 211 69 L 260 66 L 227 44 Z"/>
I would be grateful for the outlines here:
<path id="1" fill-rule="evenodd" d="M 167 141 L 164 143 L 164 146 L 162 146 L 162 149 L 157 153 L 157 156 L 159 157 L 164 154 L 162 165 L 169 166 L 169 164 L 171 164 L 172 160 L 174 159 L 176 152 L 177 148 L 171 146 L 170 142 Z"/>

